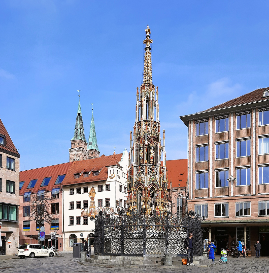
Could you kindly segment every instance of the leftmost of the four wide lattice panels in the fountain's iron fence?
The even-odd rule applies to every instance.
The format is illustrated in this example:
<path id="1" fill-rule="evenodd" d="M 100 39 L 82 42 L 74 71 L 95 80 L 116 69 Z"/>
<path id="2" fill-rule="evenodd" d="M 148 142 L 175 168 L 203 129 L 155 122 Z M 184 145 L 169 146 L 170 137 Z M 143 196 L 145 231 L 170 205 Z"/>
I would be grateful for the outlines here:
<path id="1" fill-rule="evenodd" d="M 121 227 L 104 227 L 104 254 L 121 254 Z"/>

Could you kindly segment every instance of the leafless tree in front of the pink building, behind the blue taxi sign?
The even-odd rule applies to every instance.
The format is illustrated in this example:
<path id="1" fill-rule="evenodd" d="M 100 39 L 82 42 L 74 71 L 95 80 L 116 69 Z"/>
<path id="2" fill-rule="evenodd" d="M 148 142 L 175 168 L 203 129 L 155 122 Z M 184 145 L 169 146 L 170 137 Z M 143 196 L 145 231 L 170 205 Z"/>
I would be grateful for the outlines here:
<path id="1" fill-rule="evenodd" d="M 53 219 L 51 215 L 51 197 L 45 191 L 39 191 L 35 195 L 31 195 L 31 214 L 30 220 L 36 221 L 39 227 L 38 234 L 40 234 L 41 224 L 50 223 Z M 38 242 L 39 244 L 40 242 Z"/>

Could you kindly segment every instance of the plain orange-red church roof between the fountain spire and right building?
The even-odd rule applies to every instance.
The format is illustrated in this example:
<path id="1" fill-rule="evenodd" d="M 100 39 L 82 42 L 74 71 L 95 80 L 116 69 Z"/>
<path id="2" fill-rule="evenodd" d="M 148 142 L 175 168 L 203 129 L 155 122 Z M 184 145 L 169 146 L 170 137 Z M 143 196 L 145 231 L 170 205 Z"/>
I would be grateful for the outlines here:
<path id="1" fill-rule="evenodd" d="M 162 164 L 162 162 L 161 162 Z M 172 188 L 185 187 L 188 180 L 188 159 L 166 160 L 168 181 L 172 180 Z"/>

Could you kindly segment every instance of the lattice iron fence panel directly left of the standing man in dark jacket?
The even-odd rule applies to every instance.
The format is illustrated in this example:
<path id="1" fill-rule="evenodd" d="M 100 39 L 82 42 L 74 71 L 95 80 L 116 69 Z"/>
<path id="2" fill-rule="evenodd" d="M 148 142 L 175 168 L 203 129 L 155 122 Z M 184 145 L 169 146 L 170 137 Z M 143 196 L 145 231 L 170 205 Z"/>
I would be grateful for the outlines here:
<path id="1" fill-rule="evenodd" d="M 168 245 L 166 251 L 173 254 L 185 254 L 184 240 L 187 237 L 187 227 L 170 226 L 168 228 Z"/>

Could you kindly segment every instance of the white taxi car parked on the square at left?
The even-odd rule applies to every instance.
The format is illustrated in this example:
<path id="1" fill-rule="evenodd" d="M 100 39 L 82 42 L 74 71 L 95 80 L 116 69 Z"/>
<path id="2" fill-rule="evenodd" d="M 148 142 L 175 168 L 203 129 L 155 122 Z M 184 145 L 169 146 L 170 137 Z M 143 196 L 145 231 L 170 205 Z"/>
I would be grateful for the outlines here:
<path id="1" fill-rule="evenodd" d="M 30 257 L 34 258 L 35 256 L 39 257 L 53 257 L 54 251 L 50 248 L 45 247 L 44 245 L 21 245 L 18 248 L 18 257 L 25 258 Z"/>

